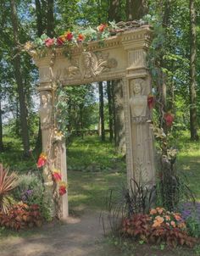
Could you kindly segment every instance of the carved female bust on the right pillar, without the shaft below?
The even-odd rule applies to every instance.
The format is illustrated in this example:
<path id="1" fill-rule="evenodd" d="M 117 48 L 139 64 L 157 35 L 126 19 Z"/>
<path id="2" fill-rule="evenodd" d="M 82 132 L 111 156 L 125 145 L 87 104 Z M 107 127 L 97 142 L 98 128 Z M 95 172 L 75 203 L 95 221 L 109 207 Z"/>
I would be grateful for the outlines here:
<path id="1" fill-rule="evenodd" d="M 147 115 L 147 96 L 143 95 L 144 81 L 142 79 L 134 79 L 131 81 L 133 95 L 130 99 L 131 117 L 139 118 Z"/>

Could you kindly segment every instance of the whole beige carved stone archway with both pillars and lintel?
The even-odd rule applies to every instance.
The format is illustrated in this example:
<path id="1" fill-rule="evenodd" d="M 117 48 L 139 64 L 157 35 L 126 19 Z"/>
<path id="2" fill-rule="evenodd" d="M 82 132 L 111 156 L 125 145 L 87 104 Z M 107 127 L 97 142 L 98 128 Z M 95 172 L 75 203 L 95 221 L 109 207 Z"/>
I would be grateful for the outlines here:
<path id="1" fill-rule="evenodd" d="M 42 150 L 48 153 L 49 163 L 43 169 L 46 200 L 52 203 L 52 214 L 60 219 L 68 217 L 68 195 L 55 193 L 51 168 L 61 170 L 67 181 L 64 137 L 58 136 L 55 124 L 54 101 L 57 83 L 63 86 L 81 85 L 94 81 L 120 79 L 125 109 L 125 140 L 127 181 L 131 178 L 154 185 L 155 168 L 153 132 L 147 122 L 150 110 L 147 95 L 151 92 L 151 78 L 147 69 L 147 50 L 152 30 L 142 25 L 108 37 L 102 44 L 89 42 L 71 50 L 71 58 L 64 55 L 64 47 L 48 50 L 44 56 L 33 55 L 39 68 L 41 95 Z M 51 166 L 52 165 L 52 166 Z M 56 202 L 56 203 L 55 203 Z"/>

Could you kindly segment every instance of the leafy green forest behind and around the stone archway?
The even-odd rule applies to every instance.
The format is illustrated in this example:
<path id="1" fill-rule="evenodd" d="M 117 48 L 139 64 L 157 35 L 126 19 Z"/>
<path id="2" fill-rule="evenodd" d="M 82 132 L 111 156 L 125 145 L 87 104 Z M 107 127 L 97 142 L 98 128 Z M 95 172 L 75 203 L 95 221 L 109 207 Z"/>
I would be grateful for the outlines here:
<path id="1" fill-rule="evenodd" d="M 97 27 L 120 20 L 146 20 L 154 29 L 148 56 L 153 93 L 162 108 L 154 115 L 164 127 L 164 113 L 174 114 L 172 132 L 197 141 L 200 123 L 200 3 L 194 0 L 1 0 L 0 3 L 0 159 L 12 151 L 41 152 L 38 70 L 19 45 L 46 33 L 57 37 L 77 26 Z M 65 129 L 74 136 L 96 130 L 102 141 L 125 153 L 123 92 L 119 81 L 68 86 Z M 188 133 L 187 133 L 188 134 Z M 8 153 L 8 154 L 7 154 Z"/>

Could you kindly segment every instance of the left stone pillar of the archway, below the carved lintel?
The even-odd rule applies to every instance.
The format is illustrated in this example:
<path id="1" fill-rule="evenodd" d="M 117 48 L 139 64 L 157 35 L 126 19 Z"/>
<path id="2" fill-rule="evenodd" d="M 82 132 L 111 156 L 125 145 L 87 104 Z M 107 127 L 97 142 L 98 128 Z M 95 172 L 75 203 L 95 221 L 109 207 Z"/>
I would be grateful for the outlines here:
<path id="1" fill-rule="evenodd" d="M 50 207 L 52 217 L 66 220 L 68 211 L 68 193 L 58 194 L 58 186 L 53 181 L 52 170 L 61 171 L 62 181 L 67 183 L 66 149 L 64 136 L 58 136 L 54 120 L 55 83 L 43 82 L 38 91 L 41 97 L 39 114 L 42 128 L 42 152 L 47 154 L 48 163 L 43 168 L 45 186 L 44 201 Z"/>

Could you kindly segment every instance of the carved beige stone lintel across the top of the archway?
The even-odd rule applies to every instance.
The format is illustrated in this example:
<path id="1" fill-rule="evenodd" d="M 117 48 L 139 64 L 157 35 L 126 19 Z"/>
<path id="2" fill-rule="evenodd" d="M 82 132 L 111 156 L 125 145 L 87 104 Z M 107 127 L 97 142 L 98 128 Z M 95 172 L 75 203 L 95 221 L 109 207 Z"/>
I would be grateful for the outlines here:
<path id="1" fill-rule="evenodd" d="M 146 70 L 149 26 L 125 31 L 105 39 L 103 43 L 88 42 L 64 55 L 64 47 L 48 49 L 42 58 L 35 57 L 40 82 L 61 81 L 63 85 L 78 85 L 94 81 L 114 80 L 131 75 L 134 70 Z M 53 58 L 52 58 L 53 56 Z"/>

